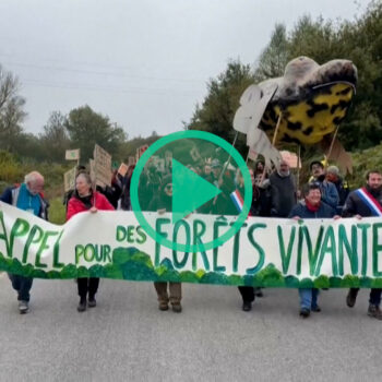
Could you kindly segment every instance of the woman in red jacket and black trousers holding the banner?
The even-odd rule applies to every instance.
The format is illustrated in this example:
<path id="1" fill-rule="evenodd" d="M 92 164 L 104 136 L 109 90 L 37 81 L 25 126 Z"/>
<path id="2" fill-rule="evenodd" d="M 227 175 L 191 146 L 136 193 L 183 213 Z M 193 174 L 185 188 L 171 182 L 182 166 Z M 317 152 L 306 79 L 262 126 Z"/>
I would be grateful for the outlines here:
<path id="1" fill-rule="evenodd" d="M 72 198 L 69 200 L 67 222 L 75 214 L 87 212 L 96 213 L 98 210 L 103 211 L 114 211 L 114 206 L 108 202 L 106 196 L 102 193 L 92 190 L 92 179 L 87 172 L 80 172 L 75 178 L 75 191 Z M 96 307 L 97 302 L 95 295 L 98 290 L 99 278 L 77 278 L 77 287 L 80 295 L 80 302 L 77 306 L 79 312 L 84 312 L 86 310 L 86 299 L 87 306 L 89 308 Z"/>

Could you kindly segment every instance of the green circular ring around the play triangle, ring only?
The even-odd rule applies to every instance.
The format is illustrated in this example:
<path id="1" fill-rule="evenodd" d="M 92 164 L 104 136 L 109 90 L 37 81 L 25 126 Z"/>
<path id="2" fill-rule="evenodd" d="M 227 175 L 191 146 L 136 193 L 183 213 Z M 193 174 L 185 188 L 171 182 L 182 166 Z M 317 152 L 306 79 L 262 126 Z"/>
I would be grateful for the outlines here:
<path id="1" fill-rule="evenodd" d="M 183 243 L 177 243 L 171 240 L 168 240 L 160 234 L 156 232 L 155 229 L 150 225 L 150 223 L 144 217 L 140 200 L 139 200 L 139 181 L 141 174 L 144 169 L 144 166 L 146 165 L 147 160 L 154 155 L 159 148 L 165 146 L 168 143 L 171 143 L 174 141 L 178 140 L 184 140 L 184 139 L 199 139 L 199 140 L 205 140 L 208 142 L 214 143 L 215 145 L 224 148 L 236 162 L 236 164 L 239 166 L 240 171 L 243 176 L 244 180 L 244 202 L 241 210 L 241 213 L 238 215 L 236 222 L 232 224 L 232 226 L 220 237 L 216 238 L 215 240 L 208 241 L 206 243 L 199 243 L 199 244 L 183 244 Z M 247 216 L 249 214 L 251 203 L 252 203 L 252 181 L 251 176 L 249 174 L 248 167 L 239 152 L 227 141 L 222 139 L 220 136 L 217 136 L 215 134 L 208 133 L 206 131 L 200 131 L 200 130 L 187 130 L 187 131 L 179 131 L 176 133 L 168 134 L 158 141 L 154 142 L 141 156 L 141 158 L 138 160 L 138 164 L 135 166 L 135 169 L 133 171 L 133 176 L 131 179 L 131 205 L 132 210 L 135 214 L 135 217 L 142 228 L 146 231 L 148 236 L 152 237 L 156 242 L 159 244 L 167 247 L 169 249 L 172 249 L 175 251 L 181 251 L 181 252 L 200 252 L 200 251 L 206 251 L 214 249 L 216 247 L 219 247 L 224 244 L 226 241 L 228 241 L 241 228 L 241 226 L 244 224 Z"/>

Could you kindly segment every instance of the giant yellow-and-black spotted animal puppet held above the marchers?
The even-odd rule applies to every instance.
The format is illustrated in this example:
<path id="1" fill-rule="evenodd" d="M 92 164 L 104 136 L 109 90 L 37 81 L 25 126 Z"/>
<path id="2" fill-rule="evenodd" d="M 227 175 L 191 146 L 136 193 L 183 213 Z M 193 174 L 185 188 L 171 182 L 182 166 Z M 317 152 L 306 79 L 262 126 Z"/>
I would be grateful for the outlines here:
<path id="1" fill-rule="evenodd" d="M 351 158 L 336 139 L 356 93 L 357 68 L 348 60 L 323 65 L 299 57 L 284 76 L 250 85 L 240 98 L 234 129 L 247 134 L 247 145 L 277 165 L 276 147 L 284 144 L 319 144 L 330 158 L 351 171 Z M 327 159 L 330 159 L 327 158 Z"/>

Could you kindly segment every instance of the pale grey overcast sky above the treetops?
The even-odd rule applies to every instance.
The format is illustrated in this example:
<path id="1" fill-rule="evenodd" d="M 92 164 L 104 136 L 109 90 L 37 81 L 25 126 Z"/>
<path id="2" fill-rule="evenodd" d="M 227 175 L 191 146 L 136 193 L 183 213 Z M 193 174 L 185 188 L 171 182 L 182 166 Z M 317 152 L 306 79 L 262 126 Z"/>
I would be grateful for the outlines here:
<path id="1" fill-rule="evenodd" d="M 19 76 L 27 132 L 89 105 L 130 138 L 189 121 L 206 82 L 254 64 L 275 23 L 353 20 L 359 0 L 1 0 L 0 63 Z"/>

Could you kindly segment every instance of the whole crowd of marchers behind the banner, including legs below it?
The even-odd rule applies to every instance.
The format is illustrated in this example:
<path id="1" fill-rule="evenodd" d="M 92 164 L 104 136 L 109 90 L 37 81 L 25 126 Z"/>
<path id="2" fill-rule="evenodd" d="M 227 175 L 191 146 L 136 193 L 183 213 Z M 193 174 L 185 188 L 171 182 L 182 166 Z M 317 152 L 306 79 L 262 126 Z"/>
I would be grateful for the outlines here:
<path id="1" fill-rule="evenodd" d="M 170 165 L 169 165 L 170 166 Z M 240 198 L 244 195 L 244 180 L 239 168 L 229 162 L 222 163 L 218 158 L 201 165 L 188 165 L 206 181 L 211 182 L 220 193 L 199 207 L 200 214 L 235 215 L 237 204 L 231 194 L 236 192 Z M 368 216 L 382 216 L 382 172 L 379 169 L 368 170 L 365 186 L 350 192 L 336 166 L 325 167 L 321 162 L 310 164 L 311 177 L 309 182 L 297 190 L 296 179 L 287 162 L 282 160 L 271 172 L 264 168 L 264 163 L 258 160 L 254 166 L 248 166 L 252 181 L 252 203 L 250 216 L 277 217 L 291 219 L 314 218 L 347 218 L 361 219 Z M 117 171 L 112 174 L 111 186 L 96 187 L 92 182 L 85 167 L 79 166 L 75 187 L 65 193 L 63 203 L 67 220 L 79 213 L 96 213 L 98 210 L 131 211 L 132 203 L 130 188 L 134 166 L 130 166 L 124 176 Z M 0 200 L 14 205 L 41 218 L 48 219 L 48 202 L 44 199 L 44 177 L 37 171 L 25 176 L 22 184 L 8 188 Z M 198 192 L 198 191 L 195 191 Z M 172 206 L 171 167 L 156 168 L 145 166 L 139 182 L 139 202 L 141 210 L 153 211 L 158 214 L 171 212 Z M 12 287 L 17 293 L 20 313 L 29 309 L 33 278 L 9 274 Z M 77 294 L 80 301 L 77 311 L 96 307 L 96 294 L 99 278 L 77 278 Z M 172 311 L 181 312 L 182 288 L 180 283 L 154 283 L 162 311 L 171 307 Z M 261 288 L 240 286 L 242 310 L 250 311 L 256 297 L 263 297 Z M 381 305 L 382 289 L 371 289 L 368 315 L 382 320 Z M 311 312 L 320 312 L 318 303 L 319 289 L 300 288 L 299 314 L 308 318 Z M 348 307 L 354 307 L 358 289 L 351 288 L 346 296 Z"/>

